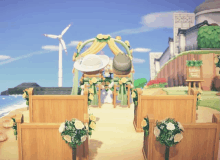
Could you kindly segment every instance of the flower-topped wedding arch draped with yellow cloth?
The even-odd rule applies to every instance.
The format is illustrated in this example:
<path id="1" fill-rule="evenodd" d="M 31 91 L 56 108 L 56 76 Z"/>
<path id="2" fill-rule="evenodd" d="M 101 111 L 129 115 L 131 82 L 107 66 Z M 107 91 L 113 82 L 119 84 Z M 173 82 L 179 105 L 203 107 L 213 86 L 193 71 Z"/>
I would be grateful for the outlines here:
<path id="1" fill-rule="evenodd" d="M 86 49 L 83 53 L 81 53 L 82 49 L 88 44 L 91 43 L 91 46 Z M 130 43 L 129 41 L 122 41 L 120 36 L 117 36 L 116 38 L 112 38 L 110 35 L 102 35 L 98 34 L 95 38 L 86 40 L 85 42 L 80 41 L 77 45 L 77 52 L 73 54 L 73 61 L 76 61 L 79 58 L 82 58 L 88 54 L 97 54 L 99 53 L 107 44 L 112 51 L 114 55 L 117 55 L 119 53 L 123 53 L 123 51 L 116 45 L 116 43 L 122 45 L 122 47 L 126 50 L 127 55 L 130 57 L 130 59 L 133 59 L 132 52 L 133 50 L 130 49 Z M 133 73 L 130 73 L 130 77 L 133 80 Z M 114 80 L 113 80 L 114 81 Z M 72 95 L 78 94 L 78 70 L 74 69 L 74 80 L 73 80 L 73 89 L 72 89 Z"/>

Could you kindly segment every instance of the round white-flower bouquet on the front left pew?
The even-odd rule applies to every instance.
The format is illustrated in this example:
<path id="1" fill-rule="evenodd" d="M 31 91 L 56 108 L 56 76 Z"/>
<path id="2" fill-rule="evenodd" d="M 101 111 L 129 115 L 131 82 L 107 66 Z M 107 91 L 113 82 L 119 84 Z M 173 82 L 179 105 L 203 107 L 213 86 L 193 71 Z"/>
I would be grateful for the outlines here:
<path id="1" fill-rule="evenodd" d="M 61 123 L 59 132 L 61 133 L 63 140 L 65 140 L 65 142 L 73 149 L 76 149 L 77 145 L 81 145 L 88 136 L 86 126 L 76 118 Z"/>

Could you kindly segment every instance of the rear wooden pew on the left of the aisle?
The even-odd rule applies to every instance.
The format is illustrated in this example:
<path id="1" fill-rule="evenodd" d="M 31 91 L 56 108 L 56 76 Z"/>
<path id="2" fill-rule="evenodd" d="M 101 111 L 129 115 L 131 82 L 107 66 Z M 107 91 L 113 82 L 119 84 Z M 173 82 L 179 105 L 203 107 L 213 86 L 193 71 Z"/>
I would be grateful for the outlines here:
<path id="1" fill-rule="evenodd" d="M 29 88 L 28 94 L 30 123 L 62 123 L 72 118 L 84 121 L 88 117 L 88 89 L 84 95 L 34 95 Z"/>

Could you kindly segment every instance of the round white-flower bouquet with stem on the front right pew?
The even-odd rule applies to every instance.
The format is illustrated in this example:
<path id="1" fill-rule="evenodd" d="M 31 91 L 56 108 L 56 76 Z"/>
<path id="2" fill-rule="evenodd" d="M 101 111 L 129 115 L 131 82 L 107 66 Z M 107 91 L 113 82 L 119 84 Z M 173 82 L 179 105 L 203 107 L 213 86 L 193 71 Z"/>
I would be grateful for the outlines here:
<path id="1" fill-rule="evenodd" d="M 181 132 L 184 131 L 181 123 L 176 122 L 174 119 L 166 118 L 162 122 L 157 122 L 154 127 L 154 135 L 156 140 L 161 144 L 166 145 L 165 160 L 169 160 L 169 148 L 178 144 L 183 135 Z"/>

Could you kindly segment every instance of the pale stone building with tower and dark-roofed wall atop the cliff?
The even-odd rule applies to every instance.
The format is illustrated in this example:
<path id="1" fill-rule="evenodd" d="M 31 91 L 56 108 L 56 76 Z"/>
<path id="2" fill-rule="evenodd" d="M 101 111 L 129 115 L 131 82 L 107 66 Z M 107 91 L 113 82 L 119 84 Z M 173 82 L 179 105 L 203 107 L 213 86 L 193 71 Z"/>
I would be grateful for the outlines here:
<path id="1" fill-rule="evenodd" d="M 206 0 L 196 7 L 194 13 L 174 13 L 173 38 L 169 38 L 167 49 L 160 57 L 158 53 L 150 52 L 151 79 L 154 79 L 160 68 L 172 57 L 184 51 L 197 50 L 199 28 L 207 25 L 220 26 L 219 17 L 219 0 Z"/>

